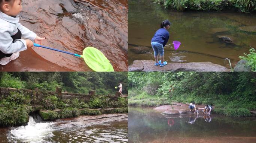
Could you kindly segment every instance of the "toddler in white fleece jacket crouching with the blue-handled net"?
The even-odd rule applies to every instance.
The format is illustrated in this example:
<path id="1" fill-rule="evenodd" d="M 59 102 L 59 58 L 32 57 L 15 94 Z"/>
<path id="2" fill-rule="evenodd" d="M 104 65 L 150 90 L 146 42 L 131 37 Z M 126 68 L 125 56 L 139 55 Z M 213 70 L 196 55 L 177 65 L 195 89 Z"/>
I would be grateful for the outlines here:
<path id="1" fill-rule="evenodd" d="M 6 65 L 19 57 L 19 52 L 41 44 L 41 38 L 19 23 L 21 0 L 0 0 L 0 64 Z M 27 40 L 21 39 L 21 36 Z"/>

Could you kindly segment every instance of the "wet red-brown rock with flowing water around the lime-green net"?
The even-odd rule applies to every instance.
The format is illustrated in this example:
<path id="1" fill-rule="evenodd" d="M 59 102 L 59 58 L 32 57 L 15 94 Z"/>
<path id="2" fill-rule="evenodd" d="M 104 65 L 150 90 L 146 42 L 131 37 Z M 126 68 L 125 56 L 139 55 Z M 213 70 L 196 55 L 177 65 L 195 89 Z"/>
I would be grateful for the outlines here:
<path id="1" fill-rule="evenodd" d="M 128 0 L 22 0 L 22 6 L 20 23 L 46 37 L 42 45 L 77 54 L 95 47 L 115 71 L 127 71 Z M 43 48 L 34 51 L 21 52 L 0 70 L 91 71 L 82 58 Z"/>

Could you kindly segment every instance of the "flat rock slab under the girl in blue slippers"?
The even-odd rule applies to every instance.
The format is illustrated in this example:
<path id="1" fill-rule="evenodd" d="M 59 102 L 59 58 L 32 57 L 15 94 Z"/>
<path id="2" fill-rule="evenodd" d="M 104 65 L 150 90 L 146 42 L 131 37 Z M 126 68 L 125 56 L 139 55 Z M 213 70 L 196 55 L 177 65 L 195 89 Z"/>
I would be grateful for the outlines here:
<path id="1" fill-rule="evenodd" d="M 160 67 L 154 66 L 152 60 L 135 60 L 128 67 L 129 71 L 230 71 L 230 69 L 213 64 L 211 62 L 192 62 L 192 63 L 168 63 Z"/>

